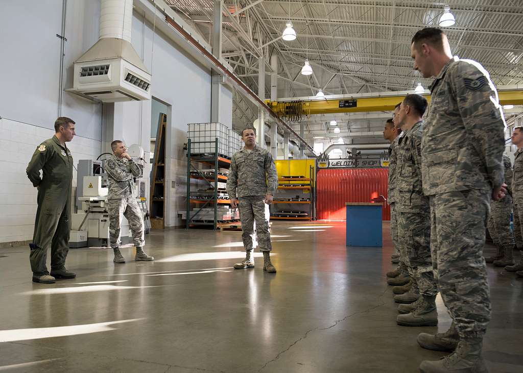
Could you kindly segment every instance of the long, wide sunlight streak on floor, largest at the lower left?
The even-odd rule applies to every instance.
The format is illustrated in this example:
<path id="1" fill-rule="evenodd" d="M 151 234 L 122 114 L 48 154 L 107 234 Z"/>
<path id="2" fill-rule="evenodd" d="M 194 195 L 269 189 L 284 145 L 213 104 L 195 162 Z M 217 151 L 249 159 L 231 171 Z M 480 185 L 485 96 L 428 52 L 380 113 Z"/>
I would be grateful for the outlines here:
<path id="1" fill-rule="evenodd" d="M 140 321 L 140 319 L 117 320 L 109 322 L 99 322 L 96 324 L 70 325 L 69 327 L 53 328 L 28 328 L 0 330 L 0 342 L 15 342 L 37 340 L 41 338 L 63 337 L 68 335 L 99 333 L 115 330 L 111 325 L 123 324 L 126 322 Z"/>

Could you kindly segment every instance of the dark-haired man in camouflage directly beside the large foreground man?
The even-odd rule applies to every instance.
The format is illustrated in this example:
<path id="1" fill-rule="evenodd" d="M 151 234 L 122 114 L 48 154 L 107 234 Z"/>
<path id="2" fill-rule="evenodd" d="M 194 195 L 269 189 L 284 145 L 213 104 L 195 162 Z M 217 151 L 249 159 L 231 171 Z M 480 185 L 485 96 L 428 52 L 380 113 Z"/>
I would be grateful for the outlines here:
<path id="1" fill-rule="evenodd" d="M 430 255 L 430 208 L 423 194 L 421 143 L 422 116 L 427 100 L 420 95 L 407 95 L 394 122 L 401 126 L 397 147 L 396 213 L 400 250 L 406 258 L 412 287 L 394 300 L 400 305 L 398 325 L 408 327 L 434 326 L 436 311 L 436 280 Z"/>

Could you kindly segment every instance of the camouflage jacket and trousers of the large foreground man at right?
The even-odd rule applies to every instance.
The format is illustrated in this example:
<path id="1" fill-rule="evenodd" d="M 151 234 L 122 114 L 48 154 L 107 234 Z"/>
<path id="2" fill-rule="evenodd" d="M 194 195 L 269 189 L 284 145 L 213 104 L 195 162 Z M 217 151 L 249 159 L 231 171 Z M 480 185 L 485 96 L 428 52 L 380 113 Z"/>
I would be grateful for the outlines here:
<path id="1" fill-rule="evenodd" d="M 454 57 L 430 90 L 422 173 L 434 273 L 460 337 L 479 338 L 491 317 L 483 247 L 492 189 L 504 180 L 505 120 L 477 62 Z"/>

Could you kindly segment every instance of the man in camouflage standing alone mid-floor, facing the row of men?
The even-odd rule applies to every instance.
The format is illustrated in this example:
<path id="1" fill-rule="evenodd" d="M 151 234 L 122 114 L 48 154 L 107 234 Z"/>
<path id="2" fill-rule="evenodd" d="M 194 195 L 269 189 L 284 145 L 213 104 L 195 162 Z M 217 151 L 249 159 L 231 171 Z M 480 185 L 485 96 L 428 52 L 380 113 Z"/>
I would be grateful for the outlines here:
<path id="1" fill-rule="evenodd" d="M 269 223 L 265 220 L 265 204 L 272 203 L 272 197 L 278 187 L 278 174 L 270 153 L 256 145 L 254 129 L 244 129 L 242 140 L 245 147 L 236 151 L 231 159 L 231 169 L 227 179 L 227 193 L 231 207 L 236 208 L 240 199 L 240 221 L 242 223 L 242 240 L 245 247 L 245 260 L 234 264 L 235 269 L 253 268 L 251 259 L 256 222 L 256 237 L 264 257 L 264 271 L 275 273 L 276 268 L 270 261 Z"/>

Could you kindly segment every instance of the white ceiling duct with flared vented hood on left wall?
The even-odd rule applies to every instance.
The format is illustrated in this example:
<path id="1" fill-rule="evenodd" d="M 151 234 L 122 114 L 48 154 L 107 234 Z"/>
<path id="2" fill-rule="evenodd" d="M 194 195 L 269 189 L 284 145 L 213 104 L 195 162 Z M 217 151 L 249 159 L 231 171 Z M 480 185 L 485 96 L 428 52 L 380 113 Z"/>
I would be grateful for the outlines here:
<path id="1" fill-rule="evenodd" d="M 101 0 L 100 37 L 74 63 L 75 94 L 102 102 L 151 99 L 151 73 L 131 45 L 132 0 Z"/>

